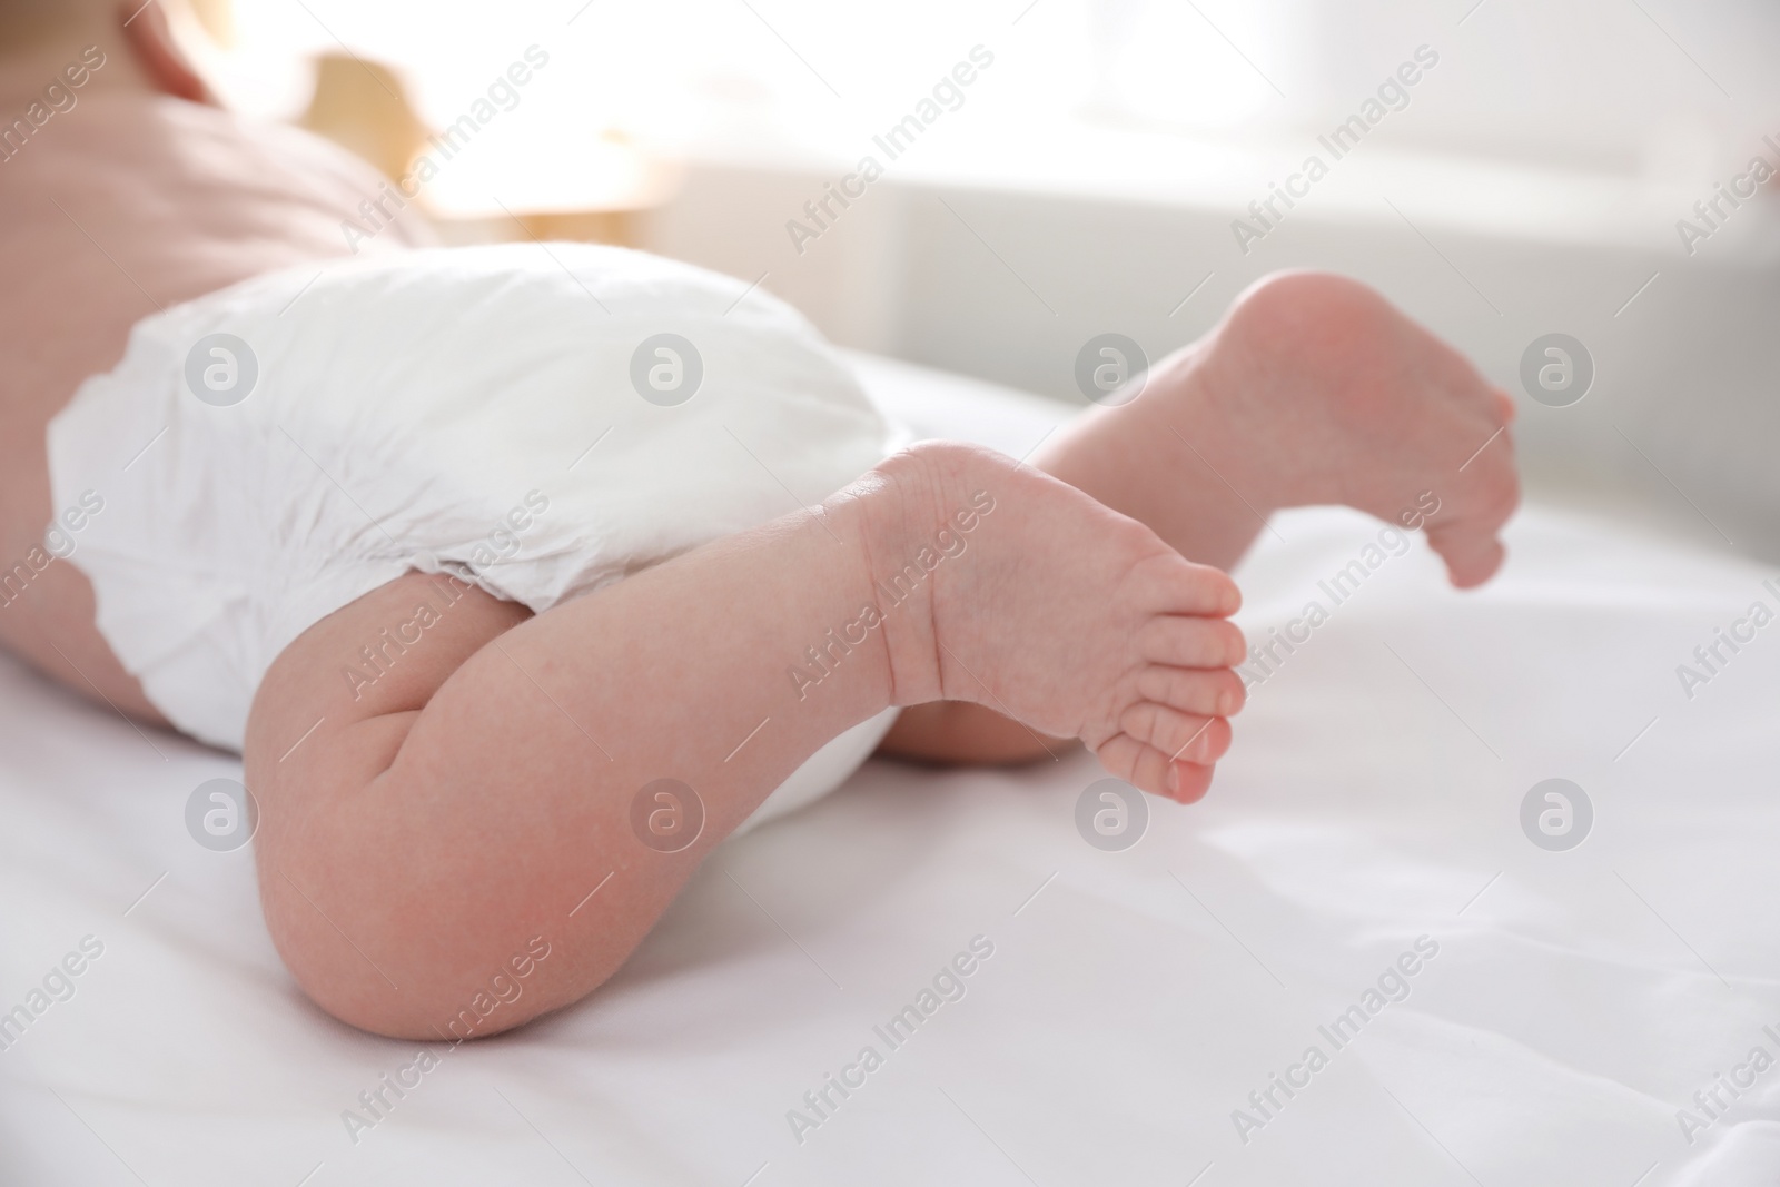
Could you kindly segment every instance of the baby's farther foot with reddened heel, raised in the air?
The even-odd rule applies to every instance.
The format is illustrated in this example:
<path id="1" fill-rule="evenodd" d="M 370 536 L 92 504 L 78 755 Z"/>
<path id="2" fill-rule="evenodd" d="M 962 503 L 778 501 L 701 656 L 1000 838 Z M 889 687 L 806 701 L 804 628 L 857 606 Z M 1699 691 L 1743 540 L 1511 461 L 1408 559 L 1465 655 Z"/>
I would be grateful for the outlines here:
<path id="1" fill-rule="evenodd" d="M 1515 404 L 1465 356 L 1328 272 L 1260 281 L 1207 347 L 1210 399 L 1271 505 L 1347 504 L 1426 527 L 1454 585 L 1495 573 L 1497 530 L 1520 502 Z"/>

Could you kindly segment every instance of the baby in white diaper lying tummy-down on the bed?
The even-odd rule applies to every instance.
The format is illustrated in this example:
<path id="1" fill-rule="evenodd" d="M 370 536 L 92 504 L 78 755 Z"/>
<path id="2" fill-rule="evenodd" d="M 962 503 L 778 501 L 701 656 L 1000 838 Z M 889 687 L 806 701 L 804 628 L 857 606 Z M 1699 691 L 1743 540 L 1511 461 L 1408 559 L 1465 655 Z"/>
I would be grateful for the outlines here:
<path id="1" fill-rule="evenodd" d="M 1452 582 L 1501 564 L 1511 400 L 1353 281 L 1260 281 L 1027 459 L 895 452 L 740 283 L 427 249 L 411 210 L 335 263 L 381 178 L 210 105 L 155 4 L 0 0 L 0 642 L 240 749 L 271 934 L 367 1030 L 463 1036 L 522 957 L 475 1034 L 580 998 L 874 742 L 1079 739 L 1196 801 L 1242 707 L 1223 569 L 1274 509 L 1433 491 Z M 662 326 L 705 351 L 685 402 L 646 392 L 689 365 Z M 587 379 L 634 351 L 635 390 Z"/>

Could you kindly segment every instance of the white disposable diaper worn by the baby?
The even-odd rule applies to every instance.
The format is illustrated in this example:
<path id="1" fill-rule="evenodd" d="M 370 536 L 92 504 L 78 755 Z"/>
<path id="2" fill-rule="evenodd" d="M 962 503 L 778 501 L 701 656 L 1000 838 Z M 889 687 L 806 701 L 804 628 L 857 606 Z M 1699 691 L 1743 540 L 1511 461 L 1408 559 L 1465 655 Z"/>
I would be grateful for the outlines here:
<path id="1" fill-rule="evenodd" d="M 586 244 L 255 278 L 139 322 L 48 431 L 57 511 L 103 500 L 68 537 L 100 634 L 169 721 L 237 751 L 278 653 L 409 569 L 541 612 L 815 504 L 894 445 L 783 303 Z M 890 717 L 755 822 L 838 785 Z"/>

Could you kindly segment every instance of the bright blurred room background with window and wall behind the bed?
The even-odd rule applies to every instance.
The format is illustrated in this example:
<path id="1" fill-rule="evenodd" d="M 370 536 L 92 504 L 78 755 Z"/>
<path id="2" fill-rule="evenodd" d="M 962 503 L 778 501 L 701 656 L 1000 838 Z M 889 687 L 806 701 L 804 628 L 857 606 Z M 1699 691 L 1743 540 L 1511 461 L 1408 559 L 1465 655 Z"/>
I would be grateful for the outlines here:
<path id="1" fill-rule="evenodd" d="M 1517 393 L 1534 493 L 1780 559 L 1780 190 L 1696 210 L 1780 167 L 1771 2 L 182 4 L 228 105 L 392 178 L 434 157 L 450 242 L 685 258 L 842 345 L 1073 400 L 1093 335 L 1159 358 L 1269 271 L 1339 269 Z M 1317 137 L 1422 46 L 1406 105 L 1335 160 Z M 546 66 L 491 96 L 527 50 Z M 445 160 L 427 137 L 479 101 Z M 874 137 L 911 114 L 892 158 Z M 1328 176 L 1258 224 L 1310 153 Z M 863 194 L 806 210 L 867 155 Z M 1234 219 L 1266 235 L 1244 251 Z M 1518 379 L 1552 331 L 1595 361 L 1568 408 Z"/>

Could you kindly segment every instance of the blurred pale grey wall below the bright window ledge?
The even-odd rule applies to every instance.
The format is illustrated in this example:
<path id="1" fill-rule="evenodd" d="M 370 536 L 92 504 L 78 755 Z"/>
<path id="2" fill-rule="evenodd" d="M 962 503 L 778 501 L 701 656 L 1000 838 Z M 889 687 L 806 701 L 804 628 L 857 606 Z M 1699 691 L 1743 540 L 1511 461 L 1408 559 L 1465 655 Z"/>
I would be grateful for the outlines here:
<path id="1" fill-rule="evenodd" d="M 1531 489 L 1780 559 L 1780 267 L 1762 262 L 1773 210 L 1750 210 L 1736 244 L 1686 256 L 1655 214 L 1641 219 L 1648 235 L 1595 235 L 1574 217 L 1490 228 L 1490 217 L 1467 226 L 1417 212 L 1410 226 L 1383 201 L 1369 215 L 1307 205 L 1242 256 L 1235 212 L 1221 205 L 885 178 L 799 254 L 785 222 L 833 176 L 694 166 L 643 246 L 749 281 L 765 272 L 765 288 L 844 345 L 1075 400 L 1073 359 L 1089 336 L 1116 329 L 1159 358 L 1253 279 L 1335 269 L 1517 395 Z M 1549 331 L 1595 359 L 1595 384 L 1572 408 L 1520 388 L 1520 356 Z"/>

